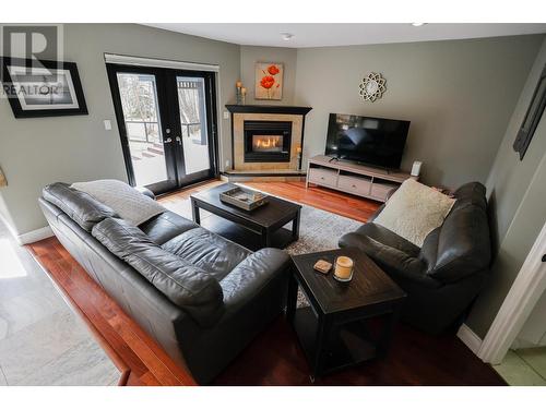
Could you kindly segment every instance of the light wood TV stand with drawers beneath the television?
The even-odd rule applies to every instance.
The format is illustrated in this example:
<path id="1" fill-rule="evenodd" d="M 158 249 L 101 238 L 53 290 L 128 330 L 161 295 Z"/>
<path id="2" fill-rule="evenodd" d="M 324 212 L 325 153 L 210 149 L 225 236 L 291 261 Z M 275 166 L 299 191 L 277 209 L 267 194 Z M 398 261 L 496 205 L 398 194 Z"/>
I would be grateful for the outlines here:
<path id="1" fill-rule="evenodd" d="M 336 160 L 332 160 L 336 159 Z M 395 169 L 378 169 L 318 155 L 307 165 L 306 188 L 309 183 L 335 189 L 358 196 L 387 202 L 410 173 Z M 416 179 L 416 178 L 415 178 Z"/>

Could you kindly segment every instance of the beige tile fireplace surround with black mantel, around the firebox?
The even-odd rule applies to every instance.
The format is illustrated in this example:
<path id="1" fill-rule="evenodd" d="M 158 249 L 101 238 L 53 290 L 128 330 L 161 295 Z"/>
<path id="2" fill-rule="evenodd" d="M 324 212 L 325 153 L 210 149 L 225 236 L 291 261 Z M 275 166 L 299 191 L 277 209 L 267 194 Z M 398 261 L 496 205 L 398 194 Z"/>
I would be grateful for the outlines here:
<path id="1" fill-rule="evenodd" d="M 232 112 L 233 170 L 270 173 L 300 170 L 297 148 L 302 148 L 305 116 L 311 108 L 265 105 L 227 105 L 226 108 Z M 245 161 L 245 121 L 292 122 L 289 161 Z"/>

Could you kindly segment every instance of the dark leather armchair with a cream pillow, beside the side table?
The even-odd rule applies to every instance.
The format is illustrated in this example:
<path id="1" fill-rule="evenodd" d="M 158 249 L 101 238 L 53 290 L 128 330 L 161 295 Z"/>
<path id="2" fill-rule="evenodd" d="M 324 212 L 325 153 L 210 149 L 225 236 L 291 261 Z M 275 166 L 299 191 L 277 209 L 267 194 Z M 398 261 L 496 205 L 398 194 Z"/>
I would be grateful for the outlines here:
<path id="1" fill-rule="evenodd" d="M 486 282 L 491 260 L 485 187 L 467 183 L 442 226 L 418 248 L 373 222 L 343 236 L 340 246 L 356 246 L 381 266 L 408 294 L 403 321 L 440 333 L 460 320 Z"/>

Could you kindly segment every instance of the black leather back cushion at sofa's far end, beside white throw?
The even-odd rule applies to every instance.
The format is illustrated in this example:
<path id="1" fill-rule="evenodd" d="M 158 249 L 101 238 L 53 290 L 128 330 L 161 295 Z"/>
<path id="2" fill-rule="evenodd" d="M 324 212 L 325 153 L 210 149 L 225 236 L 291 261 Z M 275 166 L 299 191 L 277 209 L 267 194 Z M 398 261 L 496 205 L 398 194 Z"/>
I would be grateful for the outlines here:
<path id="1" fill-rule="evenodd" d="M 41 196 L 59 207 L 82 229 L 91 231 L 93 226 L 107 217 L 117 217 L 116 212 L 87 193 L 70 188 L 67 183 L 45 187 Z"/>

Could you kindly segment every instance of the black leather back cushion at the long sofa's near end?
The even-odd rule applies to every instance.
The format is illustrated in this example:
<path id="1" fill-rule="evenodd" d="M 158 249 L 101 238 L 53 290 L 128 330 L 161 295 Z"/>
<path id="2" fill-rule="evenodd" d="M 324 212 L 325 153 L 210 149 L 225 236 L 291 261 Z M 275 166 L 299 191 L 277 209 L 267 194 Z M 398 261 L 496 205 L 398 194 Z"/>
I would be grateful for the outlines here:
<path id="1" fill-rule="evenodd" d="M 107 218 L 93 228 L 92 234 L 201 326 L 211 326 L 222 316 L 224 296 L 218 281 L 162 249 L 138 227 Z"/>

